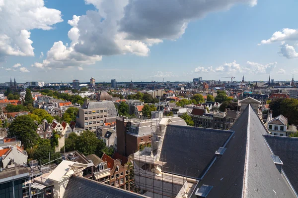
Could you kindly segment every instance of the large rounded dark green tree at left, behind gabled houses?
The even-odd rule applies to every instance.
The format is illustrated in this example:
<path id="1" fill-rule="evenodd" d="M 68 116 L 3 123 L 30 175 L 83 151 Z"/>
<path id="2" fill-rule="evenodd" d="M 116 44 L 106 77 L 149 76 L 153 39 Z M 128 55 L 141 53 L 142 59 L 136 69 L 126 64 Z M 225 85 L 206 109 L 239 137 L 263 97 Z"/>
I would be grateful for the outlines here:
<path id="1" fill-rule="evenodd" d="M 37 125 L 28 115 L 17 116 L 9 125 L 9 137 L 16 137 L 24 145 L 24 148 L 32 147 L 37 140 Z"/>

